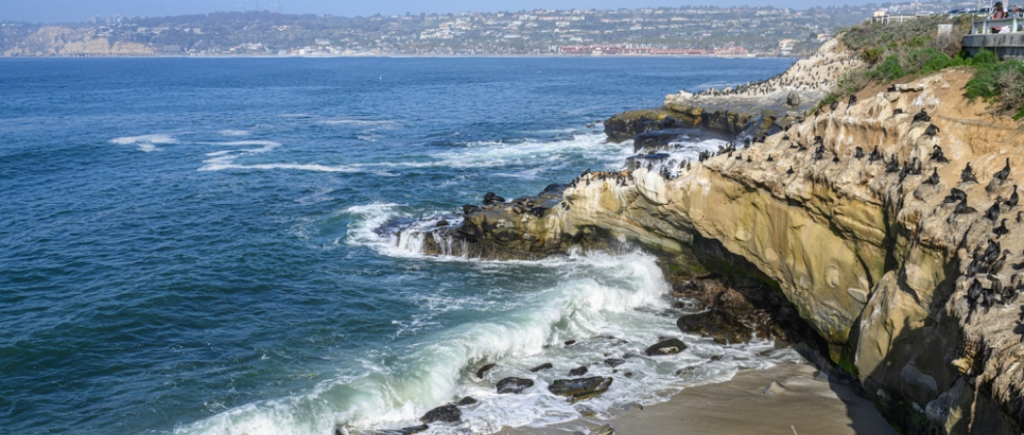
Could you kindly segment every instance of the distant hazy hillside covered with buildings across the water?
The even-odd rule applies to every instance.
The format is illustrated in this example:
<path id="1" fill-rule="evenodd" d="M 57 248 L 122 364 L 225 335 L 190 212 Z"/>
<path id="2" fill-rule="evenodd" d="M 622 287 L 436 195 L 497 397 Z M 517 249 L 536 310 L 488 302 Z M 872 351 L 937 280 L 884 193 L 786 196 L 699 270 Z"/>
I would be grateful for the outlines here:
<path id="1" fill-rule="evenodd" d="M 889 6 L 941 12 L 952 3 Z M 4 23 L 4 56 L 104 55 L 802 55 L 877 5 L 531 10 L 341 17 L 270 11 Z"/>

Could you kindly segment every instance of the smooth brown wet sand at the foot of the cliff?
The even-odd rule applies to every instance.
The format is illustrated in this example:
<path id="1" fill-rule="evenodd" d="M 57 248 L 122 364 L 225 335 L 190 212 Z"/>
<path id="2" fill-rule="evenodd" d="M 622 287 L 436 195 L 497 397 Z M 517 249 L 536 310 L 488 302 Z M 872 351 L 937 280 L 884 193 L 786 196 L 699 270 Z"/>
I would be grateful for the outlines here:
<path id="1" fill-rule="evenodd" d="M 806 363 L 741 372 L 731 381 L 689 388 L 668 402 L 634 407 L 616 419 L 589 418 L 558 427 L 506 429 L 501 434 L 587 434 L 608 424 L 620 435 L 897 435 L 854 388 L 815 374 L 814 366 Z"/>

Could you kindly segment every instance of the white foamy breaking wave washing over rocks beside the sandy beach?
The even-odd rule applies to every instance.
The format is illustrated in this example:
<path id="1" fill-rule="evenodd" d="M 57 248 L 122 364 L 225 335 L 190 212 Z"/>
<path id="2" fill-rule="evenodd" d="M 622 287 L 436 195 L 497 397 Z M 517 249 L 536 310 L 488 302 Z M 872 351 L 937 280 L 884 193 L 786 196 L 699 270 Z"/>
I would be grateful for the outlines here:
<path id="1" fill-rule="evenodd" d="M 797 358 L 792 351 L 773 350 L 767 342 L 721 346 L 681 334 L 675 327 L 678 313 L 668 312 L 669 303 L 663 298 L 668 284 L 654 258 L 646 254 L 470 264 L 524 273 L 538 273 L 537 266 L 542 266 L 541 273 L 550 270 L 559 279 L 546 289 L 517 292 L 508 298 L 512 308 L 501 304 L 490 309 L 473 300 L 464 308 L 437 301 L 440 309 L 486 310 L 493 315 L 434 329 L 421 334 L 422 340 L 414 345 L 381 351 L 391 357 L 359 360 L 354 368 L 359 373 L 339 375 L 292 396 L 225 410 L 178 427 L 175 433 L 328 435 L 338 425 L 356 431 L 397 429 L 418 425 L 417 419 L 430 408 L 466 395 L 479 402 L 462 407 L 462 423 L 432 424 L 427 433 L 495 433 L 507 426 L 578 419 L 584 406 L 598 417 L 614 417 L 630 403 L 656 403 L 690 386 L 728 380 L 741 368 Z M 659 336 L 681 337 L 689 348 L 677 355 L 643 356 L 643 349 Z M 564 346 L 565 340 L 577 343 Z M 612 368 L 601 362 L 609 356 L 626 362 Z M 498 366 L 482 380 L 471 375 L 486 362 Z M 554 367 L 528 371 L 543 362 Z M 567 372 L 580 365 L 589 367 L 587 376 L 612 378 L 608 391 L 577 405 L 548 392 L 555 379 L 568 378 Z M 497 381 L 511 376 L 536 384 L 522 394 L 497 394 Z"/>

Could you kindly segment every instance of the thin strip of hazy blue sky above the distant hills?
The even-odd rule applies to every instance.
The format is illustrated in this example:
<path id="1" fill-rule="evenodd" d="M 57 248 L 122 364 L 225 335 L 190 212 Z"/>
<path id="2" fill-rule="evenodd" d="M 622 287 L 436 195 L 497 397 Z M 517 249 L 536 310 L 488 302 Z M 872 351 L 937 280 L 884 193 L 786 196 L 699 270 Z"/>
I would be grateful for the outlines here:
<path id="1" fill-rule="evenodd" d="M 882 3 L 885 0 L 874 1 Z M 646 6 L 680 6 L 684 4 L 765 5 L 806 8 L 811 5 L 840 6 L 864 4 L 870 0 L 281 0 L 285 13 L 330 13 L 355 16 L 404 14 L 406 12 L 489 12 L 534 8 L 568 9 Z M 254 0 L 0 0 L 0 21 L 32 23 L 84 21 L 94 15 L 178 15 L 218 10 L 255 9 Z M 278 0 L 263 0 L 260 8 L 278 9 Z"/>

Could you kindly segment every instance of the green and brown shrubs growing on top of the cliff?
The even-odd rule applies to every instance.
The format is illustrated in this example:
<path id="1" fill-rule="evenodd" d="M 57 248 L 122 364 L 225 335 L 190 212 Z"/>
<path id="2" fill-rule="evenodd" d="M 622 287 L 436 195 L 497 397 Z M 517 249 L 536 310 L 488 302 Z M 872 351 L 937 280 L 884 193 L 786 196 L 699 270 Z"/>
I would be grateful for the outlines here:
<path id="1" fill-rule="evenodd" d="M 836 91 L 818 106 L 840 100 L 872 84 L 913 79 L 952 67 L 971 67 L 975 77 L 965 87 L 968 98 L 982 98 L 993 113 L 1024 117 L 1024 63 L 999 61 L 994 53 L 982 50 L 968 56 L 961 41 L 971 28 L 972 17 L 935 16 L 900 24 L 865 23 L 843 35 L 843 42 L 866 64 L 840 78 Z M 951 25 L 948 34 L 938 35 L 939 25 Z M 812 110 L 813 111 L 813 110 Z"/>

